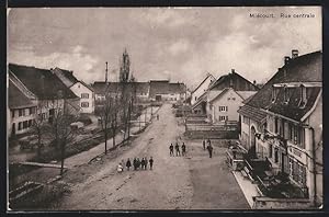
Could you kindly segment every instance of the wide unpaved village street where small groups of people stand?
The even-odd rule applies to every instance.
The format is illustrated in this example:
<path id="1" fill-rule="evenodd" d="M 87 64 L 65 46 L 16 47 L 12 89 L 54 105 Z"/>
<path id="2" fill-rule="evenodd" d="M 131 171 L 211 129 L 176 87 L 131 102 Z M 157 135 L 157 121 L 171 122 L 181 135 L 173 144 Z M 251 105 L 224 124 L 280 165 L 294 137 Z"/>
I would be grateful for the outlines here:
<path id="1" fill-rule="evenodd" d="M 214 145 L 211 159 L 201 141 L 185 141 L 188 157 L 170 157 L 169 145 L 183 140 L 171 105 L 158 111 L 160 119 L 111 158 L 86 163 L 67 172 L 71 186 L 54 209 L 230 209 L 249 208 L 234 175 L 225 163 L 225 148 Z M 127 158 L 154 158 L 154 170 L 124 171 L 116 165 Z"/>

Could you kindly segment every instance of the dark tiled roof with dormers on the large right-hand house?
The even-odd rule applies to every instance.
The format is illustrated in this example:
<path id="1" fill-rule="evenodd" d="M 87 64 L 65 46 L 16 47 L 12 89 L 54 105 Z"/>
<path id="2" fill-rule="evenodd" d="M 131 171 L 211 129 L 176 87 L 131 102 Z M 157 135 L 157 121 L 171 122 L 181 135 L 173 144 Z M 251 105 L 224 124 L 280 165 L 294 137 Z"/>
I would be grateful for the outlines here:
<path id="1" fill-rule="evenodd" d="M 311 103 L 315 103 L 315 98 L 319 93 L 320 88 L 311 88 L 309 91 L 309 100 L 302 108 L 296 106 L 295 101 L 299 101 L 297 89 L 291 92 L 291 101 L 288 104 L 283 104 L 283 94 L 279 92 L 277 100 L 272 103 L 272 85 L 275 83 L 288 82 L 322 82 L 322 54 L 315 52 L 291 59 L 288 64 L 283 66 L 279 71 L 246 103 L 253 107 L 270 110 L 283 116 L 287 116 L 299 121 L 306 114 Z"/>

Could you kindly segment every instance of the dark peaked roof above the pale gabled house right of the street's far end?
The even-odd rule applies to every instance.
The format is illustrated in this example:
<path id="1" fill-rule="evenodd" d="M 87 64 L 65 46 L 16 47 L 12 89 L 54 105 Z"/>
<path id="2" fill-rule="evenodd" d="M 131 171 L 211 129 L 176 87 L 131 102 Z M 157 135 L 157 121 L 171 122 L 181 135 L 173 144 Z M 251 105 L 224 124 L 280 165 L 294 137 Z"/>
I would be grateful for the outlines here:
<path id="1" fill-rule="evenodd" d="M 232 88 L 235 91 L 258 91 L 259 88 L 245 79 L 237 72 L 231 72 L 219 77 L 214 82 L 209 90 L 223 90 L 225 88 Z"/>

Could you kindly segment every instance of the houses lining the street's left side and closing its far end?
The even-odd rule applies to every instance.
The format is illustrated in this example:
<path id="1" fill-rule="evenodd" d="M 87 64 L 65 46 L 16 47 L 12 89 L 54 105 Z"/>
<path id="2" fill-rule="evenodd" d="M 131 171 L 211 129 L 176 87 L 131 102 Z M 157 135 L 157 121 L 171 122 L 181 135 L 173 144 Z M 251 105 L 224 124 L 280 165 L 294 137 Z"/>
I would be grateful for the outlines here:
<path id="1" fill-rule="evenodd" d="M 105 93 L 117 93 L 122 82 L 94 82 L 92 85 L 78 80 L 72 71 L 54 68 L 41 69 L 9 64 L 8 66 L 8 136 L 27 133 L 36 117 L 52 122 L 57 112 L 64 110 L 94 113 L 98 102 Z M 184 83 L 169 80 L 127 82 L 128 91 L 135 91 L 139 102 L 183 101 Z"/>

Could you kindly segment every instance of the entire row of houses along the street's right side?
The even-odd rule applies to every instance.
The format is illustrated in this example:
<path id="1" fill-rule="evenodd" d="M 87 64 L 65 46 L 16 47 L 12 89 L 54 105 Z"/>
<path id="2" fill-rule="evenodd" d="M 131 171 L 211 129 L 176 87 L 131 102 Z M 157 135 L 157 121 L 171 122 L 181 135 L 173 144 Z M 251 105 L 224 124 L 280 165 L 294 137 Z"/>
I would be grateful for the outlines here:
<path id="1" fill-rule="evenodd" d="M 191 104 L 194 115 L 213 126 L 239 125 L 247 173 L 269 164 L 262 184 L 273 175 L 287 176 L 310 202 L 322 204 L 321 52 L 299 56 L 292 50 L 261 88 L 234 69 L 218 79 L 208 73 L 192 91 Z"/>

